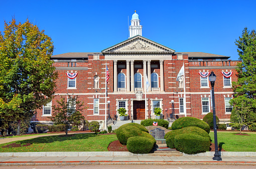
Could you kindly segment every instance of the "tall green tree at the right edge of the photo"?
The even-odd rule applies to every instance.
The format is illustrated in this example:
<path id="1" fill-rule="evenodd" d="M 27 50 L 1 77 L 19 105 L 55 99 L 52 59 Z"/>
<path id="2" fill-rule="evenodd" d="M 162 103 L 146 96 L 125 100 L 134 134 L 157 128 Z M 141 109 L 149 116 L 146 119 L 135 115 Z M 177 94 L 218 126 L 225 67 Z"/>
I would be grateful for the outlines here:
<path id="1" fill-rule="evenodd" d="M 238 80 L 232 82 L 234 98 L 230 116 L 231 121 L 238 125 L 256 122 L 256 38 L 255 30 L 245 27 L 242 36 L 235 41 L 239 59 L 237 64 Z"/>

